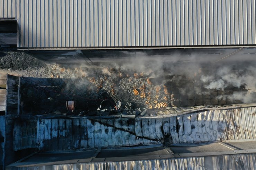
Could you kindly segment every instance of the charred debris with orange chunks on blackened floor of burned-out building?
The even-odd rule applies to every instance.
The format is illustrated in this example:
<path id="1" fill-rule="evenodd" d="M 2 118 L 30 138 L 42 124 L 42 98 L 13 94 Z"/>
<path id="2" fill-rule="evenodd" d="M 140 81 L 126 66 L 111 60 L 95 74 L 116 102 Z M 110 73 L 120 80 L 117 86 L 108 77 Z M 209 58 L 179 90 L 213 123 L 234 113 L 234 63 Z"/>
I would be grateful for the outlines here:
<path id="1" fill-rule="evenodd" d="M 76 70 L 77 74 L 83 72 Z M 21 77 L 20 111 L 49 116 L 157 116 L 166 108 L 244 103 L 243 98 L 229 96 L 248 94 L 246 82 L 240 87 L 207 89 L 211 82 L 202 80 L 201 72 L 199 69 L 191 79 L 185 74 L 153 77 L 153 73 L 106 67 L 73 79 Z"/>

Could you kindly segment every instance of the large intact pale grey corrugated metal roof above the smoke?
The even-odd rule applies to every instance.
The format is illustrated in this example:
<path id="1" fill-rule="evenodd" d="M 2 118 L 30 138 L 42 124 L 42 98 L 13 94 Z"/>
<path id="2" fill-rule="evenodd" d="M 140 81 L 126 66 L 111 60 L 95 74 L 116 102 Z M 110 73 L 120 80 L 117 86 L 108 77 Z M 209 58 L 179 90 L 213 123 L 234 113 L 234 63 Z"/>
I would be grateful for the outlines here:
<path id="1" fill-rule="evenodd" d="M 20 48 L 256 44 L 255 0 L 0 0 Z"/>

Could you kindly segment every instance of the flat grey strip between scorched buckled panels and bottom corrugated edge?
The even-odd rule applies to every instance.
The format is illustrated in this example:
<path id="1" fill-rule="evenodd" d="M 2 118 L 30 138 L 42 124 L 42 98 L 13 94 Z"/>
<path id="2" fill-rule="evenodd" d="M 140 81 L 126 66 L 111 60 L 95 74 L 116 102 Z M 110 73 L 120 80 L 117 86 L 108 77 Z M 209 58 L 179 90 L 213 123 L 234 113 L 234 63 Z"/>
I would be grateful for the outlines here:
<path id="1" fill-rule="evenodd" d="M 46 166 L 53 164 L 150 160 L 181 157 L 204 157 L 228 154 L 256 153 L 256 141 L 208 143 L 195 145 L 122 147 L 64 153 L 36 153 L 33 156 L 8 165 L 8 167 Z M 231 146 L 232 145 L 232 146 Z M 230 146 L 230 148 L 229 148 Z M 237 147 L 237 150 L 236 150 Z M 233 148 L 233 149 L 232 149 Z M 170 150 L 171 149 L 171 150 Z M 235 149 L 235 150 L 234 150 Z M 173 153 L 172 153 L 173 152 Z"/>

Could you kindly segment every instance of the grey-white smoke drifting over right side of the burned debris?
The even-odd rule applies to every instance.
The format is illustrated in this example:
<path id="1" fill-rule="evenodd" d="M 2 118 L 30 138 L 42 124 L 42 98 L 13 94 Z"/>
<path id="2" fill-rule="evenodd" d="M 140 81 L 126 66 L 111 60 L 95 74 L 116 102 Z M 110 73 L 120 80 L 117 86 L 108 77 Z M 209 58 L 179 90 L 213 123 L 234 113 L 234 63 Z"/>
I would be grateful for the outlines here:
<path id="1" fill-rule="evenodd" d="M 243 57 L 241 57 L 243 58 Z M 208 56 L 205 58 L 196 55 L 174 53 L 170 55 L 154 55 L 147 53 L 134 53 L 126 61 L 116 62 L 109 65 L 101 65 L 102 73 L 110 77 L 111 68 L 134 73 L 143 73 L 144 77 L 157 78 L 159 84 L 175 82 L 179 85 L 183 81 L 194 83 L 194 91 L 201 83 L 202 94 L 210 94 L 210 91 L 219 91 L 218 100 L 232 100 L 243 103 L 256 102 L 256 59 L 250 60 L 227 60 L 214 63 Z M 188 92 L 185 87 L 180 86 L 182 94 Z"/>

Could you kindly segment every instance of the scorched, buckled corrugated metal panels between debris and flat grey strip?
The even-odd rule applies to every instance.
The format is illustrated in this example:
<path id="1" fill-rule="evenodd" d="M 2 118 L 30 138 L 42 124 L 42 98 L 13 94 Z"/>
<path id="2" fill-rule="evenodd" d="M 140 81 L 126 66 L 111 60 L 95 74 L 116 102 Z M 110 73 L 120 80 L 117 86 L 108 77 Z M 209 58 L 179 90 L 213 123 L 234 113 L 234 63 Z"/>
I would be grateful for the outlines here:
<path id="1" fill-rule="evenodd" d="M 256 107 L 206 110 L 166 118 L 39 119 L 39 150 L 256 139 Z"/>

